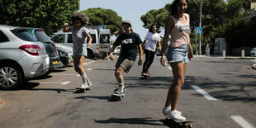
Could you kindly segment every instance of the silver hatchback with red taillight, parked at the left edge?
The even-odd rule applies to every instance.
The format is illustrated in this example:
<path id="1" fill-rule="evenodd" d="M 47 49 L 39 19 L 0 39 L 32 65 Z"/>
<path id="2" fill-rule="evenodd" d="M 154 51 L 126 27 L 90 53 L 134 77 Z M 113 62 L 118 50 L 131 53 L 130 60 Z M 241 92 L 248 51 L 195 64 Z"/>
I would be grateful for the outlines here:
<path id="1" fill-rule="evenodd" d="M 0 25 L 0 88 L 20 87 L 25 79 L 48 72 L 45 45 L 17 26 Z"/>

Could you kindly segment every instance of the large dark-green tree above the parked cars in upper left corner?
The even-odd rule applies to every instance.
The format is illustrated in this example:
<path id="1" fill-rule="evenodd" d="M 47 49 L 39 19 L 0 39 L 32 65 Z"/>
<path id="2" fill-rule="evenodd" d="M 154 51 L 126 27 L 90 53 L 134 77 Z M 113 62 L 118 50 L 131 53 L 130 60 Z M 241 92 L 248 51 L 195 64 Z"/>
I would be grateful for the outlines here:
<path id="1" fill-rule="evenodd" d="M 79 8 L 79 0 L 0 0 L 0 24 L 39 27 L 51 34 Z"/>

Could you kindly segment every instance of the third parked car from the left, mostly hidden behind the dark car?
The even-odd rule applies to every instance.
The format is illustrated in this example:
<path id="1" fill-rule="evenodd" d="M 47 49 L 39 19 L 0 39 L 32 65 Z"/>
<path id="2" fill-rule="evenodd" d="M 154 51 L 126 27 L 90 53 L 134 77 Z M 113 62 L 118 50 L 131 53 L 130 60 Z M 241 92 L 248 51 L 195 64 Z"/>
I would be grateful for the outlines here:
<path id="1" fill-rule="evenodd" d="M 70 64 L 69 52 L 67 50 L 61 49 L 59 47 L 57 47 L 57 51 L 59 54 L 59 67 L 58 68 L 68 67 Z"/>

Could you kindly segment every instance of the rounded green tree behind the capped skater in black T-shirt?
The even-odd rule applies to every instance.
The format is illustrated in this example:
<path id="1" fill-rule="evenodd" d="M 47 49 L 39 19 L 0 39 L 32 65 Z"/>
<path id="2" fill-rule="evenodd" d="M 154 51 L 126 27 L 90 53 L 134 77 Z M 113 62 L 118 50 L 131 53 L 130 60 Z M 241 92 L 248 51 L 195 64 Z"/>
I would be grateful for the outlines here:
<path id="1" fill-rule="evenodd" d="M 89 17 L 89 26 L 106 26 L 111 30 L 111 34 L 115 31 L 121 31 L 122 18 L 111 9 L 103 9 L 101 7 L 88 8 L 81 11 Z"/>

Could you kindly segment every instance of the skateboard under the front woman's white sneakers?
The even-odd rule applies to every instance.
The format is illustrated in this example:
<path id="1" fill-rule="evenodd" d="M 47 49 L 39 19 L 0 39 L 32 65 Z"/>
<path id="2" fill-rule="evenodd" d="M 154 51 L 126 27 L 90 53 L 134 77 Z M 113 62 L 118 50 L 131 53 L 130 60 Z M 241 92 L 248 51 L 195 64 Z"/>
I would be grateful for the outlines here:
<path id="1" fill-rule="evenodd" d="M 173 119 L 165 119 L 166 123 L 168 126 L 176 127 L 176 128 L 192 128 L 192 122 L 191 120 L 186 120 L 186 121 L 177 121 Z"/>

